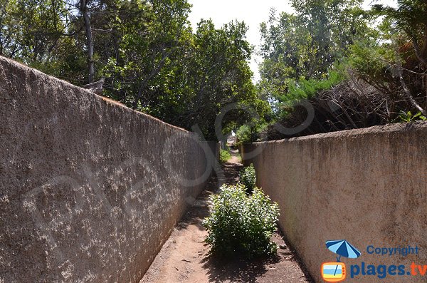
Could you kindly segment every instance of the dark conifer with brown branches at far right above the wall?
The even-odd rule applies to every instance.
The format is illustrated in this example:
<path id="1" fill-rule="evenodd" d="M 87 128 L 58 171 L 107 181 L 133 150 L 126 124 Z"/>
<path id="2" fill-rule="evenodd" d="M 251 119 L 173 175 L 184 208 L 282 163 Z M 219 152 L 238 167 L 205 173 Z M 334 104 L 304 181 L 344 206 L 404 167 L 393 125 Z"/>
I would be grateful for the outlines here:
<path id="1" fill-rule="evenodd" d="M 427 114 L 427 2 L 399 0 L 398 7 L 375 5 L 378 32 L 352 47 L 350 63 L 364 81 L 389 95 L 389 115 L 399 110 Z"/>

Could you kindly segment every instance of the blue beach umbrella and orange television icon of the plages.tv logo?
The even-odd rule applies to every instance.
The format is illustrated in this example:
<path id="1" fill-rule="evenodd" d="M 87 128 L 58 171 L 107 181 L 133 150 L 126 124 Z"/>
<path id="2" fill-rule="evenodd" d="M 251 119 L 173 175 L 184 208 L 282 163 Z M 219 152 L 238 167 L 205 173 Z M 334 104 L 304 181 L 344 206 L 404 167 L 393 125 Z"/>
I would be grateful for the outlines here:
<path id="1" fill-rule="evenodd" d="M 344 262 L 340 262 L 341 257 L 356 259 L 360 256 L 359 249 L 350 245 L 346 240 L 326 241 L 326 247 L 335 254 L 338 254 L 337 262 L 324 262 L 320 272 L 326 282 L 344 281 L 347 270 Z"/>

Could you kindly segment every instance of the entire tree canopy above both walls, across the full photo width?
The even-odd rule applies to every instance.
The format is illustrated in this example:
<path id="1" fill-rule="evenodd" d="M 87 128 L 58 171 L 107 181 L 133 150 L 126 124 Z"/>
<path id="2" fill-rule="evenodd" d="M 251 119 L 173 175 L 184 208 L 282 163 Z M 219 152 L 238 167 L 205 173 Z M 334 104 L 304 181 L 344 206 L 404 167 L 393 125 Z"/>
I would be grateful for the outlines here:
<path id="1" fill-rule="evenodd" d="M 192 29 L 186 0 L 0 0 L 0 54 L 78 86 L 105 78 L 104 96 L 206 139 L 244 125 L 257 140 L 310 111 L 298 135 L 426 115 L 426 1 L 290 3 L 260 25 L 255 85 L 248 26 Z"/>

